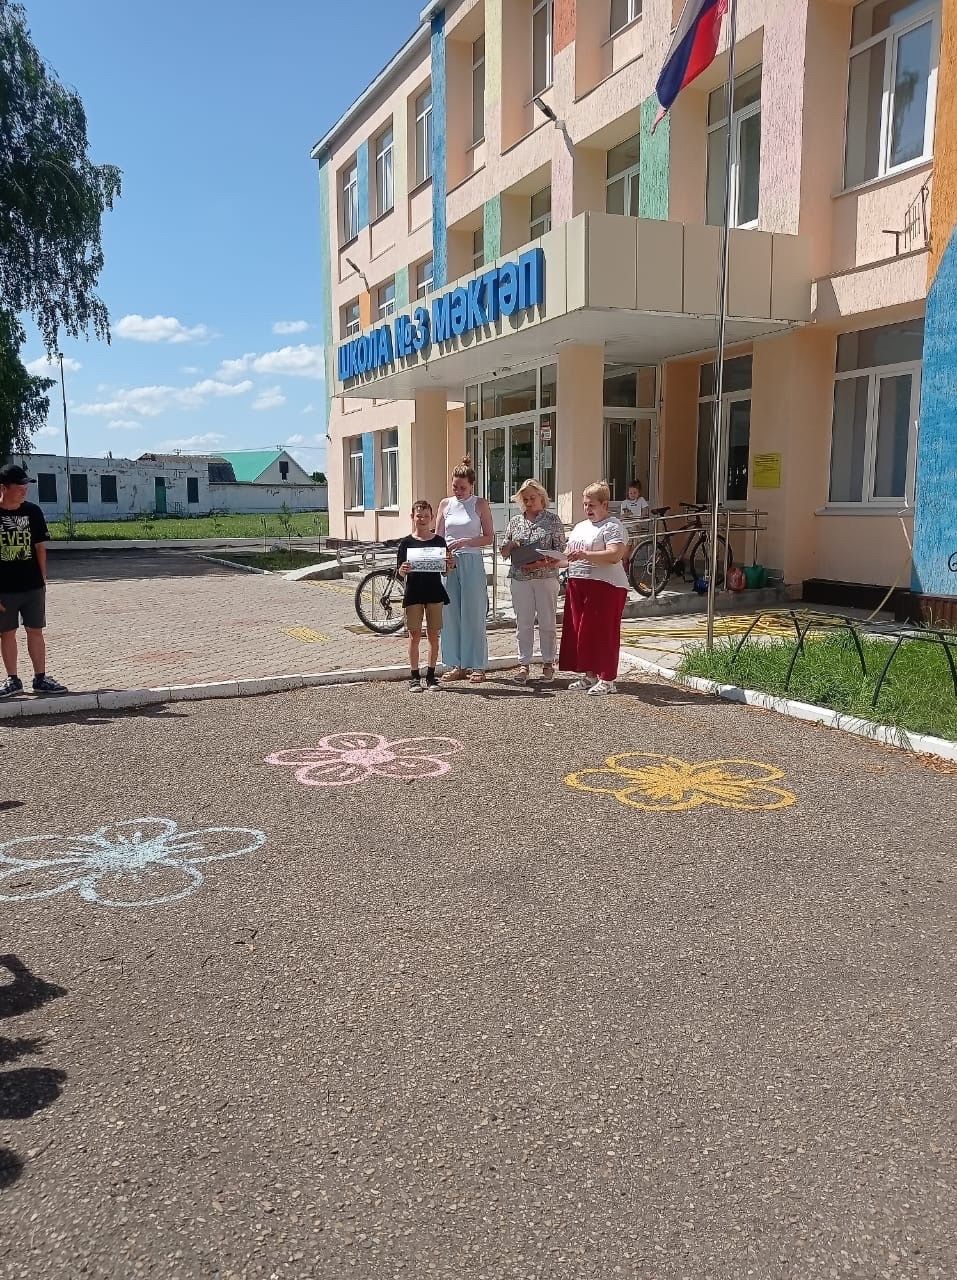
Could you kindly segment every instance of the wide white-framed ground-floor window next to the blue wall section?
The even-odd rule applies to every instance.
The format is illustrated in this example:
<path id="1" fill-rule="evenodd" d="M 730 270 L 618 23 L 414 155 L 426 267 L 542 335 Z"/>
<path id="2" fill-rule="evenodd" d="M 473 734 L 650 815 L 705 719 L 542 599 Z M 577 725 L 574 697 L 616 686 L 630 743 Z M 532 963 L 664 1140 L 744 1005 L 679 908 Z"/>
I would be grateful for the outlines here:
<path id="1" fill-rule="evenodd" d="M 924 320 L 838 338 L 829 502 L 899 506 L 913 490 Z"/>

